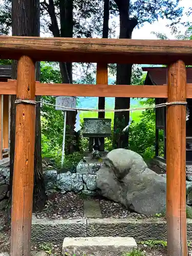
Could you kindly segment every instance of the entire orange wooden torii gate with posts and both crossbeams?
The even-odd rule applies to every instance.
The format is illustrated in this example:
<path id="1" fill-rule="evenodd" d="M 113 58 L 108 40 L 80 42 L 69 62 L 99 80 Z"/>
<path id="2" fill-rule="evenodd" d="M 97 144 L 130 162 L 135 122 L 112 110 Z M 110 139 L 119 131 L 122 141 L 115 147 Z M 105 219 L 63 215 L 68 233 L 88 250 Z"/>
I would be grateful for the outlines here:
<path id="1" fill-rule="evenodd" d="M 17 59 L 17 81 L 0 82 L 0 94 L 16 95 L 16 136 L 11 220 L 11 255 L 29 256 L 31 241 L 35 95 L 167 98 L 166 219 L 169 256 L 187 256 L 185 139 L 185 65 L 192 62 L 192 41 L 92 38 L 0 37 L 2 59 Z M 129 86 L 35 82 L 35 61 L 168 65 L 168 84 Z M 106 67 L 106 66 L 105 66 Z M 106 70 L 103 69 L 106 75 Z M 102 72 L 101 72 L 102 73 Z M 98 79 L 102 81 L 102 79 Z M 19 101 L 20 100 L 20 101 Z M 25 102 L 30 100 L 31 102 Z"/>

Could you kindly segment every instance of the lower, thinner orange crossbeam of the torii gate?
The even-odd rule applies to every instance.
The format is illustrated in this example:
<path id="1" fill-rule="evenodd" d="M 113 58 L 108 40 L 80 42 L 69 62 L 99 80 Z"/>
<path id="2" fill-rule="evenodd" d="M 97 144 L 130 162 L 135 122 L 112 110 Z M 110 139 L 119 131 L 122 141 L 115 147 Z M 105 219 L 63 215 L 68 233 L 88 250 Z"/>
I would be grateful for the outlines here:
<path id="1" fill-rule="evenodd" d="M 123 87 L 123 88 L 122 88 Z M 16 94 L 16 80 L 0 82 L 2 94 Z M 167 98 L 167 84 L 158 86 L 127 86 L 108 84 L 35 83 L 35 95 L 85 97 Z M 192 83 L 187 83 L 187 98 L 192 98 Z"/>

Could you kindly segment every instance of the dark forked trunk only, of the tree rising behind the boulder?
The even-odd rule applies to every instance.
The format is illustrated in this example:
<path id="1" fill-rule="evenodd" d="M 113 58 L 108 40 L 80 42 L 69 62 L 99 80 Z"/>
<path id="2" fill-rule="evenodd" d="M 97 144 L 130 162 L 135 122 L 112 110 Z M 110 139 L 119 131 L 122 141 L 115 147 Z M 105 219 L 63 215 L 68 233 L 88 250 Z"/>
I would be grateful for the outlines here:
<path id="1" fill-rule="evenodd" d="M 136 19 L 129 18 L 130 3 L 125 0 L 115 0 L 119 8 L 120 34 L 119 38 L 132 38 L 132 32 L 137 26 Z M 130 84 L 132 65 L 117 65 L 116 84 Z M 122 88 L 123 90 L 123 88 Z M 115 98 L 115 109 L 129 109 L 130 98 Z M 122 130 L 129 123 L 130 112 L 115 112 L 114 117 L 114 141 L 115 148 L 127 148 L 129 145 L 129 133 Z"/>

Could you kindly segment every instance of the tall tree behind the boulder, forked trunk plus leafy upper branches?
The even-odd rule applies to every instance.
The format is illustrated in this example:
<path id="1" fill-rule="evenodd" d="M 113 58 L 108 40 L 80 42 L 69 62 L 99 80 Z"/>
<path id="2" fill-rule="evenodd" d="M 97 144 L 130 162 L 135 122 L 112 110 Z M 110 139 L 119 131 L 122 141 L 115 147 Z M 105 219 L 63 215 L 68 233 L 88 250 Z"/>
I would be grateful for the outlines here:
<path id="1" fill-rule="evenodd" d="M 178 8 L 179 0 L 114 0 L 119 11 L 120 34 L 119 38 L 132 38 L 136 26 L 144 22 L 152 24 L 159 18 L 167 18 L 179 22 L 183 8 Z M 132 65 L 117 65 L 117 84 L 130 84 Z M 129 109 L 130 98 L 116 98 L 115 109 Z M 129 123 L 129 112 L 116 112 L 114 120 L 114 135 Z M 114 146 L 126 148 L 129 134 L 121 133 L 120 138 L 114 136 Z"/>

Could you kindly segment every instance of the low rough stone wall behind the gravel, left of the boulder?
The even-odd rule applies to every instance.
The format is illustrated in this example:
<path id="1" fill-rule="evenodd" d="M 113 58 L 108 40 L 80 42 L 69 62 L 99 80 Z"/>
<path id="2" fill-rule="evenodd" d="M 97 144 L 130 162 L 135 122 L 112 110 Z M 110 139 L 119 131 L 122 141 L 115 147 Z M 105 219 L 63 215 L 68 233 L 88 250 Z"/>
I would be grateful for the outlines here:
<path id="1" fill-rule="evenodd" d="M 96 173 L 102 164 L 85 163 L 82 160 L 77 166 L 76 173 L 59 173 L 57 169 L 53 169 L 53 166 L 45 165 L 44 161 L 44 179 L 47 193 L 73 191 L 74 193 L 83 193 L 88 196 L 99 194 L 96 187 Z M 46 167 L 49 169 L 46 169 Z M 0 210 L 5 209 L 8 203 L 9 175 L 9 167 L 0 167 Z"/>

